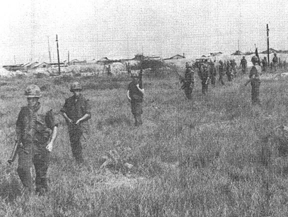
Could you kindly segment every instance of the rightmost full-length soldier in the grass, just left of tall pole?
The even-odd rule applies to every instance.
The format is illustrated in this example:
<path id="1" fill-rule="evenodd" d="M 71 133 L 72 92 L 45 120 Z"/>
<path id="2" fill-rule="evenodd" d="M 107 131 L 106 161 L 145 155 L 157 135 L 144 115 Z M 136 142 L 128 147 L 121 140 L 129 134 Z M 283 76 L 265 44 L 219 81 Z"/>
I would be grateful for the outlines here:
<path id="1" fill-rule="evenodd" d="M 251 82 L 251 99 L 252 104 L 260 104 L 259 100 L 259 88 L 260 88 L 260 73 L 261 67 L 258 65 L 258 57 L 253 56 L 251 58 L 253 63 L 252 68 L 250 69 L 249 80 L 245 83 L 245 86 Z"/>

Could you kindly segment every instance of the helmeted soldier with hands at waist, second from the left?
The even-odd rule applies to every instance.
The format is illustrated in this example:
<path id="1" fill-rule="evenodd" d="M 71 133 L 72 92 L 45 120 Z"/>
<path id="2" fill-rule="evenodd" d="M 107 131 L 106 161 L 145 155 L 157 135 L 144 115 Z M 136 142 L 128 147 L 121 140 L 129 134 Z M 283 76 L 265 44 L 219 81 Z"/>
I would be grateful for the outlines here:
<path id="1" fill-rule="evenodd" d="M 65 103 L 61 108 L 68 126 L 72 154 L 78 164 L 83 162 L 81 138 L 84 137 L 83 133 L 85 127 L 87 127 L 87 120 L 91 118 L 89 100 L 84 98 L 81 90 L 80 83 L 73 82 L 70 85 L 70 91 L 73 95 L 65 99 Z"/>

